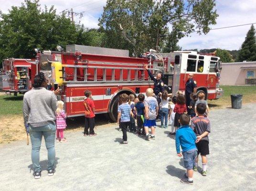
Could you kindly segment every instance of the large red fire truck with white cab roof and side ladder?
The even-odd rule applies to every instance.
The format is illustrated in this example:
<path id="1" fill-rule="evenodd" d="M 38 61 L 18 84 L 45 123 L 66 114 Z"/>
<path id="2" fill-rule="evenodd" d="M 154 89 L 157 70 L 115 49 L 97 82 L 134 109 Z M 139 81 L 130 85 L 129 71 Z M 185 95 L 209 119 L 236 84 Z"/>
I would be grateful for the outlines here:
<path id="1" fill-rule="evenodd" d="M 219 88 L 219 57 L 203 56 L 196 52 L 174 52 L 149 53 L 146 58 L 133 58 L 128 55 L 118 56 L 123 50 L 88 46 L 80 48 L 66 48 L 67 52 L 62 52 L 61 57 L 48 58 L 44 64 L 40 58 L 45 55 L 38 53 L 39 61 L 32 64 L 32 78 L 35 75 L 33 71 L 43 71 L 47 78 L 52 78 L 60 86 L 59 99 L 64 101 L 68 117 L 84 115 L 84 91 L 89 89 L 92 91 L 96 114 L 108 113 L 110 119 L 116 121 L 120 94 L 137 96 L 139 93 L 145 94 L 148 87 L 153 87 L 153 81 L 144 70 L 145 64 L 148 64 L 152 73 L 164 74 L 162 80 L 172 94 L 178 90 L 185 91 L 188 74 L 192 73 L 197 82 L 197 92 L 203 91 L 208 99 L 218 99 L 223 95 Z"/>

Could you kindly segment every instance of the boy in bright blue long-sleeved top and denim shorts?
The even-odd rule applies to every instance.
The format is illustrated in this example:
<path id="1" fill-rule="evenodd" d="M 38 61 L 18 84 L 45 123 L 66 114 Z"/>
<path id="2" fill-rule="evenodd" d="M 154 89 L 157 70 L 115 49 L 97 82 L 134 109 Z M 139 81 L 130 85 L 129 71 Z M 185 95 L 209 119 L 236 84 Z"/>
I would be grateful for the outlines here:
<path id="1" fill-rule="evenodd" d="M 179 122 L 181 123 L 181 127 L 176 131 L 176 151 L 179 157 L 183 155 L 184 167 L 187 169 L 184 178 L 181 178 L 181 182 L 193 184 L 193 166 L 197 157 L 197 149 L 195 145 L 196 136 L 192 128 L 189 127 L 189 115 L 182 114 Z"/>

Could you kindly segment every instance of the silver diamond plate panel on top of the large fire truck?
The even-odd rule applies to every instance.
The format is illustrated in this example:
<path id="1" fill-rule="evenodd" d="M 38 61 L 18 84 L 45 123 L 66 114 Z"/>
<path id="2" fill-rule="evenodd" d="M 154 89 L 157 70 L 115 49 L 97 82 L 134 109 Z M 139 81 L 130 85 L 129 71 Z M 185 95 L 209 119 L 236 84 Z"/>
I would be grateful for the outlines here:
<path id="1" fill-rule="evenodd" d="M 66 52 L 75 53 L 76 51 L 81 53 L 89 53 L 89 54 L 129 57 L 128 50 L 102 48 L 102 47 L 96 47 L 96 46 L 84 46 L 84 45 L 77 45 L 77 44 L 66 45 Z"/>

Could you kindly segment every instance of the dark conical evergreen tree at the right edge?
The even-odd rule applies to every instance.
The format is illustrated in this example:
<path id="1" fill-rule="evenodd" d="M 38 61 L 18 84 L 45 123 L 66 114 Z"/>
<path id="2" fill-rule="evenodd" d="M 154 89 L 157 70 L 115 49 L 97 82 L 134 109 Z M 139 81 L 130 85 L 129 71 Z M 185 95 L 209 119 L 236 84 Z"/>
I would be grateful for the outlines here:
<path id="1" fill-rule="evenodd" d="M 256 61 L 256 37 L 255 28 L 252 25 L 250 30 L 247 32 L 245 42 L 243 42 L 238 55 L 238 61 Z"/>

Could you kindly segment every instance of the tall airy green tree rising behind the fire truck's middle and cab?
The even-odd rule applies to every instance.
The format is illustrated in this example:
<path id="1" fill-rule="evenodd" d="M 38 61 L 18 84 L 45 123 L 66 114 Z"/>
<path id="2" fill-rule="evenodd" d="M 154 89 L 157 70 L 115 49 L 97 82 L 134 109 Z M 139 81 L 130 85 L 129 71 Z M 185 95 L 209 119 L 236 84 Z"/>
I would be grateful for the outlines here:
<path id="1" fill-rule="evenodd" d="M 111 48 L 135 55 L 149 48 L 171 50 L 191 32 L 209 32 L 218 16 L 214 7 L 215 0 L 107 0 L 99 26 Z"/>

